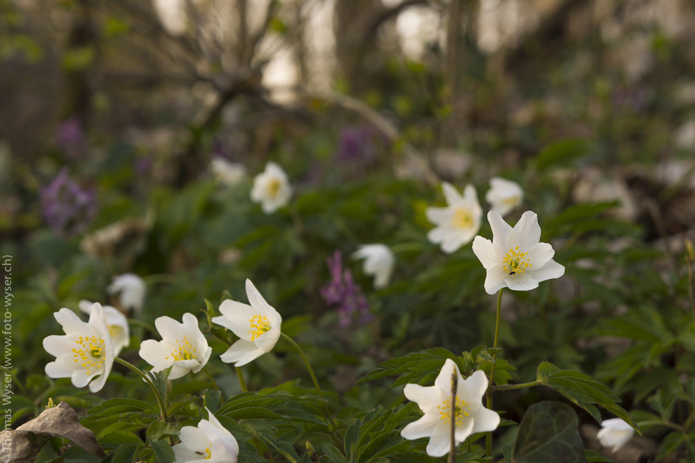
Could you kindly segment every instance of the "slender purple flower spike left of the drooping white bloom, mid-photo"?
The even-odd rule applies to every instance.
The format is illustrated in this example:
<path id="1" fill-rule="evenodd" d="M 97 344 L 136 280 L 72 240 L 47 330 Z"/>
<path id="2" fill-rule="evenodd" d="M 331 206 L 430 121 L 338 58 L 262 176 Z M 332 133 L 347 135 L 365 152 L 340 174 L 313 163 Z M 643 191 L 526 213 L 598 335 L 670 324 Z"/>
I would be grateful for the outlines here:
<path id="1" fill-rule="evenodd" d="M 327 305 L 338 310 L 338 326 L 350 326 L 355 317 L 361 324 L 368 323 L 373 318 L 369 305 L 361 287 L 354 283 L 350 269 L 343 270 L 341 252 L 336 251 L 326 262 L 331 280 L 320 289 L 320 294 Z"/>

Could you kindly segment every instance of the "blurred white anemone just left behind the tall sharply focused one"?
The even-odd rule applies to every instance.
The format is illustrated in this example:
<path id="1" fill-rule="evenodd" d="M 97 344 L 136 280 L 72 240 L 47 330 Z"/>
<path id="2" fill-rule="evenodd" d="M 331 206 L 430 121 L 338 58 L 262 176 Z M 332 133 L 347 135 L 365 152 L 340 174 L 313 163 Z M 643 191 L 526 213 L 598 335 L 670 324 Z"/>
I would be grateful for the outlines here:
<path id="1" fill-rule="evenodd" d="M 427 233 L 427 239 L 434 244 L 441 244 L 441 250 L 450 254 L 470 242 L 480 230 L 482 208 L 473 185 L 466 186 L 464 196 L 449 183 L 442 182 L 441 188 L 447 207 L 425 210 L 427 220 L 436 225 L 436 228 Z"/>

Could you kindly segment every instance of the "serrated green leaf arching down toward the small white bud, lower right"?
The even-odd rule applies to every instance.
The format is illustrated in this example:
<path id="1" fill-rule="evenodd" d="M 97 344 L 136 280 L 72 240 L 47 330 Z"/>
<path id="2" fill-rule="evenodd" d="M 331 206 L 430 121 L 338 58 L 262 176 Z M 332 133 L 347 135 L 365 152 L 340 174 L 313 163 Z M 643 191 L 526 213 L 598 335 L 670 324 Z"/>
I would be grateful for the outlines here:
<path id="1" fill-rule="evenodd" d="M 594 419 L 601 422 L 601 416 L 594 404 L 603 407 L 612 414 L 619 416 L 635 428 L 641 435 L 630 414 L 618 405 L 620 398 L 615 396 L 610 389 L 590 376 L 574 370 L 561 370 L 550 362 L 543 362 L 538 366 L 536 378 L 544 385 L 555 389 L 570 401 L 587 410 Z"/>

